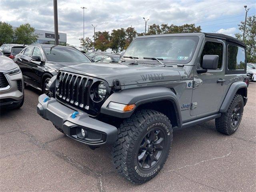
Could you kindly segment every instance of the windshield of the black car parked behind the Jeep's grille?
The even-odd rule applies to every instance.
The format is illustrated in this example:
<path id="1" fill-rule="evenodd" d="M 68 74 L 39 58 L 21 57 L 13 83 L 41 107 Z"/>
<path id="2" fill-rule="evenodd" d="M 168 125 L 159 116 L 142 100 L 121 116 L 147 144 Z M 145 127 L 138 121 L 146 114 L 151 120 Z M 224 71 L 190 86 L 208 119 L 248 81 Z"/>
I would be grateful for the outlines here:
<path id="1" fill-rule="evenodd" d="M 43 47 L 48 61 L 53 62 L 91 62 L 82 52 L 64 46 Z"/>

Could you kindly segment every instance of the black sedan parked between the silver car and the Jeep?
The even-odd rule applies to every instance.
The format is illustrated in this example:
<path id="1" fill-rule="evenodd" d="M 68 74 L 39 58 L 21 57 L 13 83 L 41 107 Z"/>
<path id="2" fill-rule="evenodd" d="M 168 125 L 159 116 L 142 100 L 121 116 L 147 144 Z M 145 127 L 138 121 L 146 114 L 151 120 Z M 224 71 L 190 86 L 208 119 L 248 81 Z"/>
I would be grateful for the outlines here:
<path id="1" fill-rule="evenodd" d="M 64 66 L 90 63 L 91 60 L 76 48 L 46 44 L 33 44 L 16 55 L 25 85 L 49 94 L 46 84 Z"/>

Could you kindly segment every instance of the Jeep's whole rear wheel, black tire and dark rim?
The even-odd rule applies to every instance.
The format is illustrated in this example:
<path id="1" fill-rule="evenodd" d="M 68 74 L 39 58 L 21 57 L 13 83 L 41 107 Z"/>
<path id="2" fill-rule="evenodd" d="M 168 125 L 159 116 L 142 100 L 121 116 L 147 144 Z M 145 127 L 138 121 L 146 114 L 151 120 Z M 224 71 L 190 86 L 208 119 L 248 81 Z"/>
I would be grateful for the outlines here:
<path id="1" fill-rule="evenodd" d="M 238 129 L 244 112 L 244 100 L 242 95 L 236 94 L 232 99 L 227 112 L 215 119 L 218 132 L 231 135 Z"/>

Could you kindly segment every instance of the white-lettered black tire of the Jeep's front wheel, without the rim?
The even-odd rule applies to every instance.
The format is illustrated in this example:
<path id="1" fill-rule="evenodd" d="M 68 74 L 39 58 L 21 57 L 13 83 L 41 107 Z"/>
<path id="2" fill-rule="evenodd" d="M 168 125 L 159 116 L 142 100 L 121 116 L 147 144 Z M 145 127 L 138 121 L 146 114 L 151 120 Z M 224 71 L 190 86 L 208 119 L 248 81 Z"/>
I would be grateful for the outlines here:
<path id="1" fill-rule="evenodd" d="M 148 132 L 159 129 L 164 137 L 164 150 L 158 161 L 148 169 L 138 166 L 138 150 Z M 157 131 L 157 130 L 156 130 Z M 172 144 L 172 125 L 164 114 L 140 110 L 125 119 L 118 128 L 118 140 L 112 146 L 113 163 L 119 174 L 134 184 L 152 179 L 164 166 Z"/>

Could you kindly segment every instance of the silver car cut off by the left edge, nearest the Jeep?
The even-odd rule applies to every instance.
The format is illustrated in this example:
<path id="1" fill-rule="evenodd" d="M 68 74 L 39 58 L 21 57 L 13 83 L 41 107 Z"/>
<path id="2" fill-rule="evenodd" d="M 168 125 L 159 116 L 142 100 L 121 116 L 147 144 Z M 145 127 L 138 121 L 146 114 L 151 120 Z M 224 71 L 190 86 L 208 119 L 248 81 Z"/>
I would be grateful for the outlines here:
<path id="1" fill-rule="evenodd" d="M 20 108 L 24 103 L 24 85 L 20 68 L 0 53 L 0 108 Z"/>

